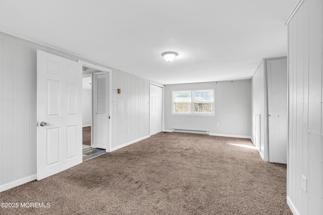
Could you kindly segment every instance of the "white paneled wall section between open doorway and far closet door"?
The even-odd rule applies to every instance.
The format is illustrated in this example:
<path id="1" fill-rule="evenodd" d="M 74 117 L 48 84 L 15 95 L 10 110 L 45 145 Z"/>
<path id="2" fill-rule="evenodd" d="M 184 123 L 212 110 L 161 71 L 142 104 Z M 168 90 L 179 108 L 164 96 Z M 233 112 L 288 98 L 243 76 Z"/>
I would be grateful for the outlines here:
<path id="1" fill-rule="evenodd" d="M 112 92 L 112 150 L 116 150 L 149 137 L 149 81 L 114 70 L 112 87 L 121 91 Z"/>

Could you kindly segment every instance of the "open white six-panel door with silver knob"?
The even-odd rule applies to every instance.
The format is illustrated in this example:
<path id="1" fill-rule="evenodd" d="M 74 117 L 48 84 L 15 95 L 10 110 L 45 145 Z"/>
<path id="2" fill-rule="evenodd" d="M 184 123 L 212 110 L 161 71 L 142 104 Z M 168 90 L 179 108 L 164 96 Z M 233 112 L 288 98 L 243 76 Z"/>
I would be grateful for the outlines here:
<path id="1" fill-rule="evenodd" d="M 82 64 L 37 50 L 37 180 L 82 163 Z"/>

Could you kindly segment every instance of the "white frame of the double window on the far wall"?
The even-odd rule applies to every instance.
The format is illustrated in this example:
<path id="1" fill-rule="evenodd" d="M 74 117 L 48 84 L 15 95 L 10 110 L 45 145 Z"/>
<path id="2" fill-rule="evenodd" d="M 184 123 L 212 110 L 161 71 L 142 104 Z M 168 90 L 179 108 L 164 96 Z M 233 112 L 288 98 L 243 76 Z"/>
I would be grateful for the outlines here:
<path id="1" fill-rule="evenodd" d="M 194 93 L 196 92 L 212 92 L 213 93 L 213 102 L 194 102 Z M 215 116 L 216 115 L 216 108 L 215 108 L 215 89 L 200 89 L 200 90 L 172 90 L 172 115 L 186 115 L 186 116 Z M 175 93 L 190 93 L 191 94 L 191 101 L 190 102 L 176 102 L 176 103 L 190 103 L 190 113 L 179 113 L 175 112 Z M 194 103 L 211 103 L 212 104 L 212 113 L 194 113 Z"/>

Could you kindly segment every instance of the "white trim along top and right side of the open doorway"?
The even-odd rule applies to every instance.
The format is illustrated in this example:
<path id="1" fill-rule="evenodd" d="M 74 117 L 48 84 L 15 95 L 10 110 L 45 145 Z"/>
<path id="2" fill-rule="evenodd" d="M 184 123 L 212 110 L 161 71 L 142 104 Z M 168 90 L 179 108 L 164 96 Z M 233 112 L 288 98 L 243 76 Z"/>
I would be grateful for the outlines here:
<path id="1" fill-rule="evenodd" d="M 109 69 L 109 68 L 105 68 L 105 67 L 102 67 L 102 66 L 98 66 L 98 65 L 94 65 L 92 63 L 88 63 L 88 62 L 84 62 L 82 60 L 78 60 L 78 62 L 81 62 L 82 63 L 82 66 L 85 66 L 85 67 L 88 67 L 88 68 L 93 68 L 93 69 L 97 69 L 99 71 L 103 71 L 107 74 L 107 76 L 109 77 L 109 87 L 108 89 L 106 89 L 106 92 L 108 93 L 109 95 L 109 101 L 108 101 L 108 104 L 109 104 L 109 110 L 107 111 L 107 114 L 108 114 L 108 117 L 111 117 L 111 109 L 112 109 L 112 91 L 111 91 L 111 86 L 112 86 L 112 69 Z M 93 83 L 93 76 L 92 76 L 92 83 Z M 94 86 L 92 86 L 92 91 L 93 91 L 93 88 Z M 92 98 L 92 102 L 93 102 L 93 99 Z M 92 103 L 94 104 L 94 103 Z M 93 112 L 93 110 L 92 110 Z M 110 152 L 111 151 L 111 144 L 112 144 L 112 120 L 110 120 L 109 118 L 106 118 L 106 120 L 108 120 L 108 123 L 109 123 L 109 138 L 106 138 L 107 142 L 105 143 L 105 151 L 106 152 Z M 92 116 L 92 120 L 93 120 L 93 116 Z M 92 126 L 96 126 L 95 123 L 93 123 L 92 121 Z M 93 127 L 93 129 L 96 129 L 96 127 Z"/>

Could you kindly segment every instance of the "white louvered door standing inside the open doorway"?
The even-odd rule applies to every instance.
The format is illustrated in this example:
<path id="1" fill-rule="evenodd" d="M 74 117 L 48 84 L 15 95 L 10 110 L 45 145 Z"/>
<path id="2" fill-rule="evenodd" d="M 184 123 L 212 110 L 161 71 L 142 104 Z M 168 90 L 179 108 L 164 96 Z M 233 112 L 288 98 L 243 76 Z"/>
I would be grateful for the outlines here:
<path id="1" fill-rule="evenodd" d="M 98 73 L 94 74 L 94 110 L 93 119 L 95 123 L 94 135 L 93 135 L 93 148 L 106 149 L 106 117 L 107 117 L 107 74 Z"/>

